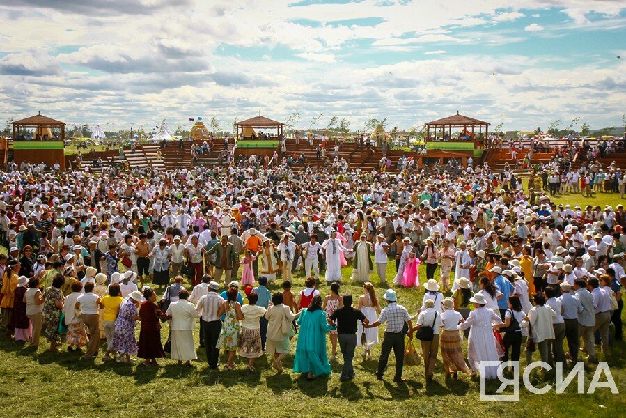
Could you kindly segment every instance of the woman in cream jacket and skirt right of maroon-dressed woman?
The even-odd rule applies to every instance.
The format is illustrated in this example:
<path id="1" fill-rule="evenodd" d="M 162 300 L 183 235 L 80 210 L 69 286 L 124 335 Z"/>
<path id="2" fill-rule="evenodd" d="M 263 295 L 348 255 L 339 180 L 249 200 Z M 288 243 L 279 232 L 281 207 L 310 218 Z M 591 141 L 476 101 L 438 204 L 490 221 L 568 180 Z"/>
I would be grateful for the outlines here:
<path id="1" fill-rule="evenodd" d="M 179 366 L 185 362 L 185 367 L 193 367 L 191 360 L 198 358 L 194 346 L 194 327 L 196 318 L 202 315 L 196 312 L 196 307 L 188 298 L 189 291 L 182 288 L 178 292 L 178 300 L 171 302 L 165 314 L 171 320 L 171 359 L 178 360 Z"/>

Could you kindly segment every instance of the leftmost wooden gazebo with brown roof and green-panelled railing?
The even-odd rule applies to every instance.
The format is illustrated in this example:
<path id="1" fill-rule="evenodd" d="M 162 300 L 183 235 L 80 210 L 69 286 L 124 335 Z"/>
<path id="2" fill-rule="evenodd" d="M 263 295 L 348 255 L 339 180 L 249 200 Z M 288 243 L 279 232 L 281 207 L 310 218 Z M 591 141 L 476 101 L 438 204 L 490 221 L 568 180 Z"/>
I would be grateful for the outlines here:
<path id="1" fill-rule="evenodd" d="M 59 164 L 65 170 L 65 123 L 36 114 L 30 118 L 21 119 L 13 125 L 13 161 L 17 164 L 30 162 L 39 164 L 45 162 L 49 166 Z M 24 134 L 24 129 L 34 130 Z M 52 134 L 53 129 L 61 130 L 61 134 Z"/>

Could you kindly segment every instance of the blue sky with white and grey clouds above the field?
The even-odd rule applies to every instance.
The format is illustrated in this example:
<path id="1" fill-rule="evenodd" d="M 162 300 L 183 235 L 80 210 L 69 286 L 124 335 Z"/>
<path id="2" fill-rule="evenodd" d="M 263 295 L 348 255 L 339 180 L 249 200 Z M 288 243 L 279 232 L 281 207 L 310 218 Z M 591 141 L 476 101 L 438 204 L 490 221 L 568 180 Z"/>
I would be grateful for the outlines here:
<path id="1" fill-rule="evenodd" d="M 0 0 L 0 118 L 621 125 L 625 29 L 612 0 Z"/>

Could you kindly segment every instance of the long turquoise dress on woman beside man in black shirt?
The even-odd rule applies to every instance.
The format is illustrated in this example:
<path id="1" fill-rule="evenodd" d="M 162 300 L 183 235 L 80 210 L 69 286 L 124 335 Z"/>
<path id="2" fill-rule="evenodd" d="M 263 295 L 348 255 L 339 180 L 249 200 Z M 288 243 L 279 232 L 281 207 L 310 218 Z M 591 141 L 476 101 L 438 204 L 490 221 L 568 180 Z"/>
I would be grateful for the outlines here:
<path id="1" fill-rule="evenodd" d="M 298 317 L 298 325 L 300 329 L 293 360 L 294 373 L 329 375 L 331 368 L 326 350 L 326 333 L 336 330 L 336 327 L 328 325 L 326 312 L 321 309 L 309 312 L 306 308 L 302 309 Z"/>

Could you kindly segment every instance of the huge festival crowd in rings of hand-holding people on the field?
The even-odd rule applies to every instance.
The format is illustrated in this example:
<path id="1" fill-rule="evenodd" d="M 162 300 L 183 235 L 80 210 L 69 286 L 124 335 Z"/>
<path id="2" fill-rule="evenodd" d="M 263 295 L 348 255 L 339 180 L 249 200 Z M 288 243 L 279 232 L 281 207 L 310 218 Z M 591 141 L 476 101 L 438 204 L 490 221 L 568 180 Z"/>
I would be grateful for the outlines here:
<path id="1" fill-rule="evenodd" d="M 357 347 L 371 358 L 378 344 L 375 374 L 393 350 L 396 381 L 420 361 L 431 379 L 439 355 L 453 378 L 522 351 L 526 363 L 535 350 L 597 362 L 622 339 L 626 213 L 551 201 L 544 189 L 574 192 L 593 169 L 559 173 L 563 190 L 559 168 L 545 169 L 524 191 L 487 164 L 331 173 L 249 160 L 97 176 L 13 165 L 0 172 L 2 325 L 31 347 L 146 366 L 169 352 L 193 367 L 199 344 L 211 369 L 232 371 L 237 356 L 254 370 L 269 354 L 281 373 L 295 348 L 293 371 L 311 380 L 338 353 L 341 380 L 353 378 Z M 346 281 L 362 294 L 343 293 Z M 396 289 L 419 287 L 419 306 L 398 303 Z M 407 337 L 421 360 L 405 358 Z"/>

